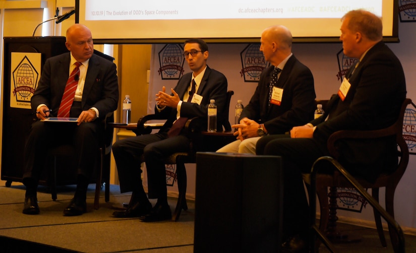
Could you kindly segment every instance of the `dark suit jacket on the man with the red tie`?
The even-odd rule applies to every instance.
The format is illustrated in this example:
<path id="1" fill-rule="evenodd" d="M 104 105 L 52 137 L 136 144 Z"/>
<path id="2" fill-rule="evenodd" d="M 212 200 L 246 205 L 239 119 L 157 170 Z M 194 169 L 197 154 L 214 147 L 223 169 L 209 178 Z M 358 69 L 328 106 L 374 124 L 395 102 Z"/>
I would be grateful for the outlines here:
<path id="1" fill-rule="evenodd" d="M 69 77 L 70 52 L 50 57 L 42 69 L 38 87 L 31 99 L 35 111 L 39 104 L 46 104 L 56 116 Z M 93 54 L 89 60 L 82 94 L 82 110 L 96 107 L 99 118 L 117 109 L 118 80 L 115 64 Z"/>

